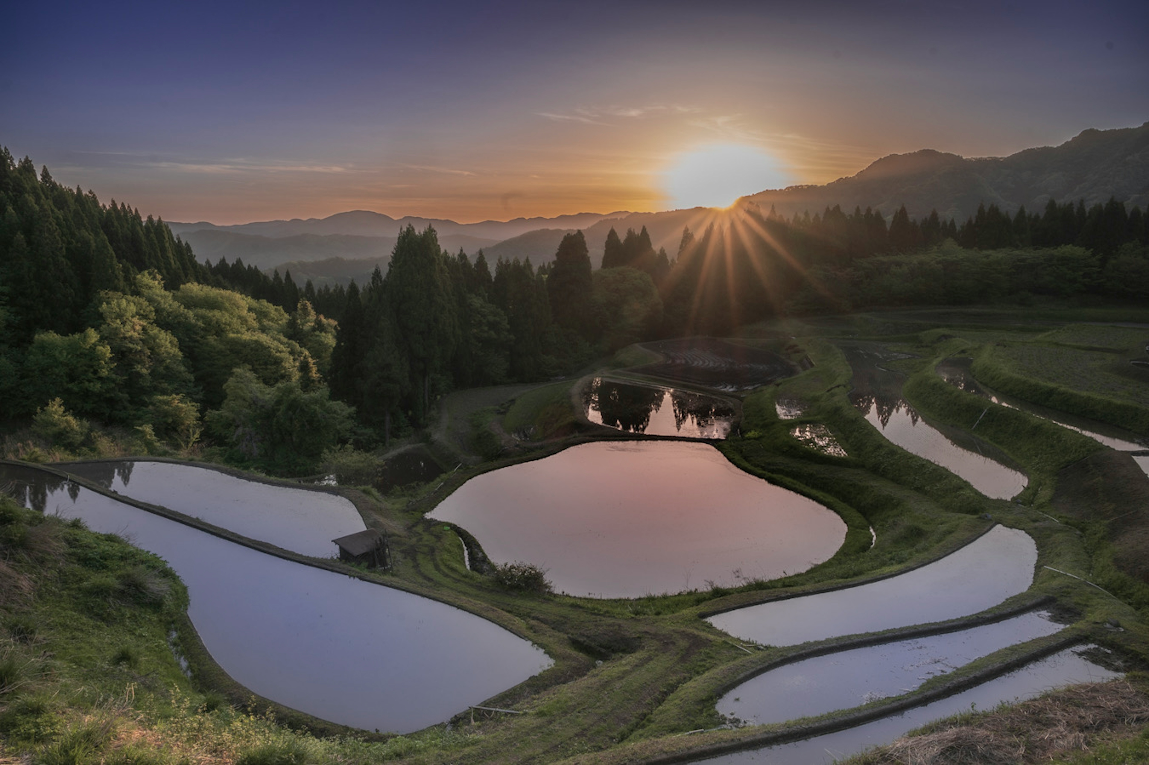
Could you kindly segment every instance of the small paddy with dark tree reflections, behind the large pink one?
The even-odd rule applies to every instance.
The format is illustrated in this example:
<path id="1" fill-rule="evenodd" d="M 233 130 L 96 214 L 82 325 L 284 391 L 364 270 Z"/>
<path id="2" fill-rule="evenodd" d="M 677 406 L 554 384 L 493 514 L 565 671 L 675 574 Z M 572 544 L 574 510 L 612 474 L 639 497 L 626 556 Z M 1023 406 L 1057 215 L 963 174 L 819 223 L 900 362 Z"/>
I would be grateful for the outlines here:
<path id="1" fill-rule="evenodd" d="M 738 417 L 715 396 L 596 377 L 583 389 L 583 414 L 627 433 L 725 439 Z"/>

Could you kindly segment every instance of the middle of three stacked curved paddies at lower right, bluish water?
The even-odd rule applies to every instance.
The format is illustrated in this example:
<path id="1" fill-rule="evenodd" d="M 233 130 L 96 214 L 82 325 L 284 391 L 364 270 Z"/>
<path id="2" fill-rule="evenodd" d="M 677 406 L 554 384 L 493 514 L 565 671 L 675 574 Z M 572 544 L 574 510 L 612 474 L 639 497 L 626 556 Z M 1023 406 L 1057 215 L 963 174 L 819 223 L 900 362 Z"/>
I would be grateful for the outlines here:
<path id="1" fill-rule="evenodd" d="M 1048 613 L 1021 616 L 959 632 L 867 646 L 786 664 L 718 700 L 718 712 L 747 722 L 784 722 L 900 696 L 976 658 L 1062 628 Z"/>

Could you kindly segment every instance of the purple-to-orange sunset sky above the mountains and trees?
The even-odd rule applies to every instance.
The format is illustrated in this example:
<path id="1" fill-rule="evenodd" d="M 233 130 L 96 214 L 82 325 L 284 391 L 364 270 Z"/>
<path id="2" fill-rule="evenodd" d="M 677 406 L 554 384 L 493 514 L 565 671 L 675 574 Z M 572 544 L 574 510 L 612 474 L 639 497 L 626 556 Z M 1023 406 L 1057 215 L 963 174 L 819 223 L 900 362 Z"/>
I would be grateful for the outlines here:
<path id="1" fill-rule="evenodd" d="M 172 222 L 674 209 L 704 157 L 747 194 L 1149 121 L 1143 0 L 61 0 L 5 22 L 0 145 Z"/>

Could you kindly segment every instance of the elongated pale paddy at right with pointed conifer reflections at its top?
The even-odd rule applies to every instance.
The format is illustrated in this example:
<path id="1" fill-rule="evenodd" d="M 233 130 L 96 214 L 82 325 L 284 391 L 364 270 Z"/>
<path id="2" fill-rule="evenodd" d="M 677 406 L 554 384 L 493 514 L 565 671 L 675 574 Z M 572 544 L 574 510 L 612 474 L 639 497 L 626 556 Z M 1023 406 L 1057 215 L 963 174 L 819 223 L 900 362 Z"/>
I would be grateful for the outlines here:
<path id="1" fill-rule="evenodd" d="M 904 401 L 884 410 L 876 397 L 867 396 L 857 402 L 857 408 L 892 443 L 961 476 L 988 497 L 1008 500 L 1028 482 L 1024 473 L 961 448 L 920 419 Z"/>

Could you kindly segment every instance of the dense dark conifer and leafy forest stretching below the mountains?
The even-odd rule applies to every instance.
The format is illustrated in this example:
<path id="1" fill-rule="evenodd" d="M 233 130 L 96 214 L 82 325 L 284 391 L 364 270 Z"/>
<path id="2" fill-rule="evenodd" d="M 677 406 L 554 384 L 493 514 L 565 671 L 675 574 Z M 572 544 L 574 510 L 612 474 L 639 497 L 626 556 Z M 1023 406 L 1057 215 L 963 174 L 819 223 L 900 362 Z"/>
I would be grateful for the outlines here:
<path id="1" fill-rule="evenodd" d="M 207 435 L 277 472 L 424 425 L 452 388 L 570 373 L 641 340 L 880 306 L 1149 299 L 1144 214 L 1116 201 L 990 206 L 962 224 L 751 207 L 684 231 L 673 258 L 645 229 L 611 230 L 597 271 L 581 232 L 535 269 L 448 254 L 408 226 L 386 273 L 318 291 L 200 263 L 162 221 L 7 149 L 0 210 L 3 420 L 71 448 L 99 446 L 88 420 L 144 449 Z"/>

